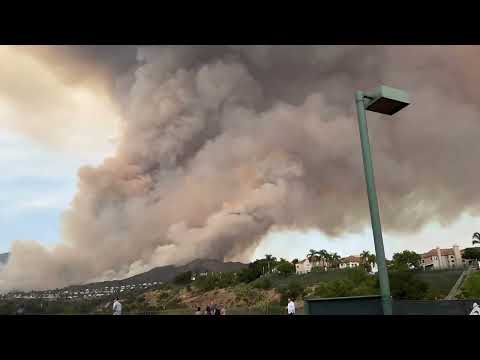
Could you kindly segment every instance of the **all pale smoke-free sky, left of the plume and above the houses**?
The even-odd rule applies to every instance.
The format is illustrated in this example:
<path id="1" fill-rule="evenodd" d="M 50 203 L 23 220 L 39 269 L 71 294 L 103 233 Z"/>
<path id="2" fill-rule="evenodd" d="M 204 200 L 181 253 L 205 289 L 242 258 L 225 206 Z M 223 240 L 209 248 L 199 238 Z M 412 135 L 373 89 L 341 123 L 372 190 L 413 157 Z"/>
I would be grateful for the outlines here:
<path id="1" fill-rule="evenodd" d="M 0 46 L 0 252 L 9 251 L 14 240 L 60 242 L 61 214 L 76 192 L 77 170 L 98 164 L 114 151 L 117 125 L 118 115 L 107 97 L 65 85 L 46 65 Z M 432 223 L 413 235 L 384 234 L 385 249 L 390 257 L 406 243 L 416 251 L 454 243 L 465 247 L 479 230 L 479 218 L 464 216 L 448 227 Z M 343 256 L 373 250 L 371 229 L 342 238 L 315 230 L 273 231 L 254 257 L 270 253 L 302 258 L 310 248 Z"/>

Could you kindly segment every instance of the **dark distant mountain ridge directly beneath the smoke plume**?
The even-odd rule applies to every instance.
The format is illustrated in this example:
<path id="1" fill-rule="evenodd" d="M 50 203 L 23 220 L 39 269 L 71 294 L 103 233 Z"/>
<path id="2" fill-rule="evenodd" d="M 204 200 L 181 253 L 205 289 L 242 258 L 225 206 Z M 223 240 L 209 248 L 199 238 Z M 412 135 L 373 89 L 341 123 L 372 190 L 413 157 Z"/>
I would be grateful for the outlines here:
<path id="1" fill-rule="evenodd" d="M 239 262 L 222 262 L 218 260 L 194 260 L 183 266 L 160 266 L 153 268 L 147 272 L 123 279 L 113 281 L 103 281 L 82 286 L 71 286 L 70 288 L 80 287 L 105 287 L 105 286 L 122 286 L 131 284 L 143 284 L 148 282 L 169 282 L 172 281 L 175 276 L 186 271 L 192 272 L 229 272 L 240 270 L 248 265 Z"/>

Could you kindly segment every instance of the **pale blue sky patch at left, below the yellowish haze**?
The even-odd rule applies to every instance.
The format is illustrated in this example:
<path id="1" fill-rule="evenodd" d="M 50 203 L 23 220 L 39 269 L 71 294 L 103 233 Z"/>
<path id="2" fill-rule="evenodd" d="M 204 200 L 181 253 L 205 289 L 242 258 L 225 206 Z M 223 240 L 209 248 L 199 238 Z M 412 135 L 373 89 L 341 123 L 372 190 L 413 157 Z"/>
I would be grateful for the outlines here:
<path id="1" fill-rule="evenodd" d="M 76 191 L 80 166 L 103 154 L 72 154 L 0 129 L 0 253 L 13 240 L 60 241 L 60 216 Z"/>

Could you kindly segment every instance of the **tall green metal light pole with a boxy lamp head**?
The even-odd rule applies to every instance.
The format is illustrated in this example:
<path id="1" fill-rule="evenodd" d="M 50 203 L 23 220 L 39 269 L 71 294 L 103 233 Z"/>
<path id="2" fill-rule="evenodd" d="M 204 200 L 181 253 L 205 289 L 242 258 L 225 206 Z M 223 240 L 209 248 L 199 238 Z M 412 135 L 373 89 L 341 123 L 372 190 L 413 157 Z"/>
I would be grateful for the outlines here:
<path id="1" fill-rule="evenodd" d="M 387 264 L 385 262 L 385 250 L 383 248 L 382 226 L 380 224 L 380 212 L 378 210 L 377 191 L 373 176 L 373 161 L 368 139 L 367 118 L 365 110 L 381 114 L 393 115 L 410 104 L 408 95 L 402 90 L 388 86 L 380 86 L 377 89 L 364 93 L 355 93 L 357 104 L 358 129 L 362 144 L 363 168 L 365 170 L 365 182 L 367 185 L 368 205 L 372 221 L 373 240 L 375 242 L 375 255 L 378 265 L 378 278 L 380 280 L 380 293 L 384 315 L 392 315 L 392 300 L 390 297 L 390 284 L 388 281 Z"/>

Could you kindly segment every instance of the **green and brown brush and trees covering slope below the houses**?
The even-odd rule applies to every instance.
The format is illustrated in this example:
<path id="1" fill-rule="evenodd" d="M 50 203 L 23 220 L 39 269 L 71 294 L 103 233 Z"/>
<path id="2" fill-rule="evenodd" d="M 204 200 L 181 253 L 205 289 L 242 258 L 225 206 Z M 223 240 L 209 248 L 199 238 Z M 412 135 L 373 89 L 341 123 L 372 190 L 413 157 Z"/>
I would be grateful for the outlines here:
<path id="1" fill-rule="evenodd" d="M 354 269 L 338 269 L 338 254 L 325 250 L 311 249 L 308 257 L 318 266 L 303 275 L 295 274 L 295 262 L 298 260 L 277 260 L 272 255 L 266 255 L 236 272 L 193 277 L 191 271 L 185 271 L 171 283 L 158 285 L 154 291 L 138 289 L 124 293 L 121 298 L 123 309 L 129 314 L 192 314 L 196 306 L 222 301 L 227 305 L 229 314 L 283 314 L 287 299 L 292 298 L 298 304 L 298 313 L 301 313 L 302 300 L 306 296 L 331 298 L 379 294 L 377 275 L 370 274 L 375 256 L 368 251 L 362 252 L 361 266 Z M 395 299 L 444 298 L 462 272 L 421 271 L 420 256 L 411 251 L 394 254 L 388 269 L 391 293 Z M 465 282 L 462 294 L 464 297 L 480 297 L 478 274 Z M 19 303 L 18 300 L 0 301 L 0 314 L 15 313 Z M 26 313 L 111 313 L 111 299 L 105 298 L 93 301 L 30 301 L 25 305 Z"/>

